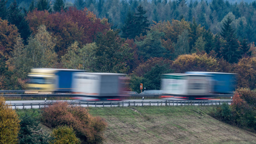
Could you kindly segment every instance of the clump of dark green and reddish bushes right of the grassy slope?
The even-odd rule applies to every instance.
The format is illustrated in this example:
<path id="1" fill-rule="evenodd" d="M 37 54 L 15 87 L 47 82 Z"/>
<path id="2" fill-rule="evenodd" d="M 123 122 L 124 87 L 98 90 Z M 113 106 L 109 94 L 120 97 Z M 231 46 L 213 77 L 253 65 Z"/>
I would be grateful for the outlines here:
<path id="1" fill-rule="evenodd" d="M 249 89 L 237 89 L 231 105 L 223 104 L 217 107 L 214 116 L 237 127 L 247 127 L 256 130 L 256 92 Z"/>

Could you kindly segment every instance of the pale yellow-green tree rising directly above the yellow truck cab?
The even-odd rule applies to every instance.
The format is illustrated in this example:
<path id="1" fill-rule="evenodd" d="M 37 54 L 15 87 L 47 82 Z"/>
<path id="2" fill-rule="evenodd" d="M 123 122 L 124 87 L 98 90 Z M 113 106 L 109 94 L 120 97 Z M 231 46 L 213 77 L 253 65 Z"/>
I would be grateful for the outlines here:
<path id="1" fill-rule="evenodd" d="M 17 42 L 10 60 L 19 73 L 27 75 L 30 68 L 52 68 L 57 62 L 57 55 L 54 52 L 55 39 L 46 31 L 44 25 L 38 28 L 38 32 L 28 39 L 28 45 L 23 48 Z M 22 76 L 24 76 L 22 75 Z"/>

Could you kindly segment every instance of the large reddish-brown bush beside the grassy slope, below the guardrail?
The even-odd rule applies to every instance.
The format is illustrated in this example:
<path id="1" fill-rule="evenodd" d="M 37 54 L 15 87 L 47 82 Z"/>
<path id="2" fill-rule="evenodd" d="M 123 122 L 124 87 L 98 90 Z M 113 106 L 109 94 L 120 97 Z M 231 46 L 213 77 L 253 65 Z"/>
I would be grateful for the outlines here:
<path id="1" fill-rule="evenodd" d="M 58 102 L 43 109 L 42 121 L 45 125 L 70 126 L 82 142 L 100 143 L 104 139 L 103 131 L 107 124 L 99 117 L 93 117 L 88 109 L 81 106 L 72 106 L 67 102 Z"/>

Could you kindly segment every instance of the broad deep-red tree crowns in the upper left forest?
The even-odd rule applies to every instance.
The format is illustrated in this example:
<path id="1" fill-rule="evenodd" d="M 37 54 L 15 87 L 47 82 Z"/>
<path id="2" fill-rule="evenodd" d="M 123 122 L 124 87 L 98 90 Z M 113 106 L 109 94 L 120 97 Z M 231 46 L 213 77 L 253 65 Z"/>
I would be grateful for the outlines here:
<path id="1" fill-rule="evenodd" d="M 61 56 L 74 41 L 79 44 L 91 43 L 99 32 L 104 33 L 110 28 L 108 20 L 96 18 L 93 12 L 86 8 L 81 11 L 69 7 L 67 11 L 49 13 L 34 10 L 27 14 L 26 19 L 34 34 L 37 27 L 45 25 L 46 30 L 56 38 L 56 51 Z"/>

